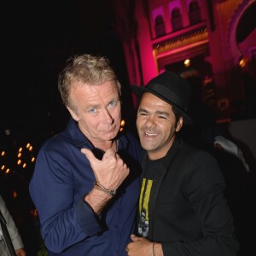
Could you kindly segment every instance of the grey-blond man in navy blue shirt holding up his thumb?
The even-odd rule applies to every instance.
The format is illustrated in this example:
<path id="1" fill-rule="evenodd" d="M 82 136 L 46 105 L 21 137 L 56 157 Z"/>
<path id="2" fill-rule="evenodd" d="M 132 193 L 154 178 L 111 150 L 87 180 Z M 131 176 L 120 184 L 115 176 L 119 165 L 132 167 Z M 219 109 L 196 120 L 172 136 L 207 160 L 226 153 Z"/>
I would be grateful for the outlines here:
<path id="1" fill-rule="evenodd" d="M 79 55 L 58 87 L 72 118 L 40 148 L 29 187 L 48 255 L 126 255 L 141 148 L 119 131 L 119 81 L 105 57 Z"/>

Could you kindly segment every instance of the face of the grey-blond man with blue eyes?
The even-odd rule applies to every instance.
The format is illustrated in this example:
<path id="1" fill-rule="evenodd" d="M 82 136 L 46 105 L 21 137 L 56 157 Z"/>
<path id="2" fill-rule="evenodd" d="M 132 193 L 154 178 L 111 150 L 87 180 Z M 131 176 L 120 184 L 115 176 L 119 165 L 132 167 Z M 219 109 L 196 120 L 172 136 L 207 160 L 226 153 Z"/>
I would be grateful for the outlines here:
<path id="1" fill-rule="evenodd" d="M 96 147 L 109 142 L 119 132 L 121 105 L 114 81 L 100 85 L 74 84 L 70 97 L 76 111 L 69 109 L 80 130 Z"/>

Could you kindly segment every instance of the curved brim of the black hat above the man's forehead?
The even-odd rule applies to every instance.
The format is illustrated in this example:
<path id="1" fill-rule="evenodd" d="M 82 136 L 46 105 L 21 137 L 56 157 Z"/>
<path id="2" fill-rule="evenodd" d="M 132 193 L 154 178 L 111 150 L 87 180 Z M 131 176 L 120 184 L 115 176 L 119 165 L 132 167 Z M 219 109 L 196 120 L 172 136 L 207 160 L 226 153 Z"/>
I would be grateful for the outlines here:
<path id="1" fill-rule="evenodd" d="M 158 94 L 157 92 L 155 92 L 154 90 L 150 90 L 144 86 L 138 86 L 136 84 L 131 84 L 131 91 L 138 97 L 139 100 L 141 100 L 141 97 L 143 96 L 144 92 L 150 92 L 152 94 L 154 94 L 154 96 L 158 96 L 161 100 L 175 106 L 180 113 L 183 116 L 183 124 L 184 125 L 192 125 L 193 121 L 192 119 L 189 117 L 189 113 L 187 113 L 186 111 L 184 111 L 182 108 L 179 108 L 177 106 L 177 104 L 175 104 L 174 102 L 170 101 L 169 99 L 166 99 L 165 96 L 161 96 L 160 94 Z"/>

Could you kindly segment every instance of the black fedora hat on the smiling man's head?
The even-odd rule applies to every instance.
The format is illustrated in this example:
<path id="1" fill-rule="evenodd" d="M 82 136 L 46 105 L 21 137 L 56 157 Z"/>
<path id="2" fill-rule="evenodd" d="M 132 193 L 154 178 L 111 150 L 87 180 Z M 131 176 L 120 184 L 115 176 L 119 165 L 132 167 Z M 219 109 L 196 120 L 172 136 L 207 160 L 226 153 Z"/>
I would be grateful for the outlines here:
<path id="1" fill-rule="evenodd" d="M 177 73 L 167 70 L 151 79 L 146 86 L 132 84 L 131 90 L 139 97 L 143 96 L 144 92 L 150 92 L 154 96 L 160 97 L 163 101 L 178 108 L 183 116 L 184 125 L 192 124 L 188 113 L 192 87 L 186 79 Z"/>

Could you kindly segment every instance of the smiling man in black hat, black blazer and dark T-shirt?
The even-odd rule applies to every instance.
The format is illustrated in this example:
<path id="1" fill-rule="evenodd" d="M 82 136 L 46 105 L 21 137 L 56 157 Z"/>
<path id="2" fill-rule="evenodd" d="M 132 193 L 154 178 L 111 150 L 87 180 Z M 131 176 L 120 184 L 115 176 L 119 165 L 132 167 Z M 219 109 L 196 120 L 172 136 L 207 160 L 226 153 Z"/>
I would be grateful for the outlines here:
<path id="1" fill-rule="evenodd" d="M 189 125 L 189 83 L 170 71 L 145 87 L 137 110 L 143 147 L 134 255 L 236 255 L 239 244 L 216 160 L 177 137 Z"/>

